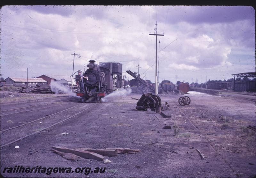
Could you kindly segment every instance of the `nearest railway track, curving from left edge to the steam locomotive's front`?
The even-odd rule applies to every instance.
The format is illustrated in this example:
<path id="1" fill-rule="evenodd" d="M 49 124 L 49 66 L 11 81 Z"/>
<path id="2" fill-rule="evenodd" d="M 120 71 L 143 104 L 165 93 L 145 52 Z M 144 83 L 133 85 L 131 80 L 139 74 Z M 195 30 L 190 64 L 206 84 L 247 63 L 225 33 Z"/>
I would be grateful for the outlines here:
<path id="1" fill-rule="evenodd" d="M 96 104 L 98 104 L 98 103 L 96 103 Z M 74 108 L 74 107 L 76 107 L 76 106 L 78 106 L 78 105 L 80 105 L 80 104 L 77 104 L 76 106 L 73 106 L 73 107 L 71 107 L 71 108 L 62 110 L 62 111 L 60 111 L 60 112 L 56 112 L 56 113 L 51 114 L 51 115 L 49 115 L 49 116 L 46 116 L 46 117 L 43 117 L 43 118 L 39 118 L 39 119 L 33 120 L 33 121 L 31 121 L 31 122 L 28 122 L 28 123 L 24 123 L 24 124 L 21 124 L 21 125 L 19 125 L 19 126 L 15 126 L 15 127 L 13 127 L 13 128 L 9 128 L 9 129 L 2 130 L 2 131 L 1 131 L 1 141 L 3 141 L 3 140 L 12 140 L 12 141 L 11 141 L 11 142 L 8 142 L 8 143 L 3 143 L 3 144 L 1 144 L 0 148 L 3 148 L 3 147 L 5 147 L 5 146 L 8 146 L 8 145 L 10 145 L 10 144 L 12 144 L 12 143 L 18 142 L 18 141 L 20 141 L 20 140 L 23 140 L 23 139 L 25 139 L 25 138 L 27 138 L 27 137 L 29 137 L 29 136 L 31 136 L 31 135 L 34 135 L 34 134 L 39 133 L 39 132 L 42 132 L 42 131 L 44 131 L 44 130 L 46 130 L 46 129 L 48 129 L 48 128 L 54 127 L 54 126 L 57 125 L 57 124 L 60 124 L 60 123 L 62 123 L 62 122 L 65 122 L 66 120 L 69 120 L 69 119 L 71 119 L 71 118 L 74 118 L 74 117 L 77 116 L 78 114 L 80 114 L 80 113 L 82 113 L 82 112 L 88 110 L 89 108 L 95 106 L 96 104 L 91 104 L 91 103 L 90 103 L 90 104 L 84 105 L 84 107 L 79 107 L 79 109 L 82 110 L 82 111 L 79 111 L 79 112 L 77 112 L 76 110 L 75 110 L 75 111 L 71 111 L 71 112 L 72 112 L 72 115 L 69 116 L 68 118 L 64 119 L 64 120 L 60 119 L 59 117 L 57 117 L 57 118 L 51 118 L 51 119 L 49 119 L 49 117 L 52 117 L 53 115 L 59 114 L 60 112 L 65 113 L 65 112 L 67 112 L 69 109 Z M 81 106 L 81 105 L 80 105 L 80 106 Z M 84 108 L 85 108 L 85 109 L 84 109 Z M 67 114 L 70 114 L 70 112 L 68 112 Z M 67 115 L 65 115 L 65 116 L 67 116 Z M 36 123 L 36 121 L 43 120 L 43 119 L 46 119 L 46 118 L 49 119 L 49 120 L 47 120 L 47 121 L 45 122 L 44 128 L 42 128 L 42 123 L 40 123 L 40 122 L 37 122 L 37 123 Z M 32 125 L 32 124 L 34 124 L 34 125 Z M 28 127 L 29 125 L 30 125 L 30 128 Z M 27 126 L 27 127 L 24 127 L 24 126 Z M 22 128 L 21 128 L 21 127 L 22 127 Z M 16 137 L 16 138 L 15 138 L 15 136 L 17 135 L 17 134 L 15 134 L 15 132 L 13 132 L 13 129 L 15 129 L 15 128 L 17 128 L 17 129 L 19 128 L 18 133 L 20 133 L 20 135 L 24 135 L 24 136 L 21 136 L 21 137 L 18 137 L 18 138 Z M 39 129 L 38 129 L 38 128 L 39 128 Z M 30 130 L 30 133 L 27 133 L 29 130 Z M 32 130 L 32 133 L 31 133 L 31 130 Z M 13 134 L 13 133 L 14 133 L 14 134 Z M 20 136 L 20 135 L 19 135 L 19 136 Z M 15 139 L 15 140 L 14 140 L 14 139 Z"/>

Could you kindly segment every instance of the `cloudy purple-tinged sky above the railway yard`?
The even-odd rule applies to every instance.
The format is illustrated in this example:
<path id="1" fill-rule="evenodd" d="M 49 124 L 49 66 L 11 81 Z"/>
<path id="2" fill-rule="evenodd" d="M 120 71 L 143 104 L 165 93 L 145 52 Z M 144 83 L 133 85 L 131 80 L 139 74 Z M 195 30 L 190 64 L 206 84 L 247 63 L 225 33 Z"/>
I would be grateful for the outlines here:
<path id="1" fill-rule="evenodd" d="M 255 71 L 251 6 L 3 6 L 1 74 L 5 79 L 72 75 L 84 64 L 120 62 L 141 77 L 191 83 Z M 160 42 L 160 43 L 159 43 Z M 128 78 L 128 74 L 127 74 Z M 130 79 L 132 77 L 130 76 Z"/>

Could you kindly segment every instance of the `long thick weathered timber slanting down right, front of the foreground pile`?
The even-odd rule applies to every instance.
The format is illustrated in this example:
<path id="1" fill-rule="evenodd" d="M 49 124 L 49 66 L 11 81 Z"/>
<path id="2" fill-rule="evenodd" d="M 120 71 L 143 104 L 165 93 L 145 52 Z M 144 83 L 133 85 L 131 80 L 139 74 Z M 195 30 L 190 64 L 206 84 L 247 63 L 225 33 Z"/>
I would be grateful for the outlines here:
<path id="1" fill-rule="evenodd" d="M 72 153 L 75 154 L 76 156 L 80 156 L 82 158 L 86 159 L 96 159 L 98 161 L 102 161 L 104 157 L 98 153 L 90 152 L 90 151 L 84 151 L 84 150 L 78 150 L 78 149 L 71 149 L 71 148 L 66 148 L 62 146 L 53 146 L 52 149 L 61 151 L 64 153 Z"/>

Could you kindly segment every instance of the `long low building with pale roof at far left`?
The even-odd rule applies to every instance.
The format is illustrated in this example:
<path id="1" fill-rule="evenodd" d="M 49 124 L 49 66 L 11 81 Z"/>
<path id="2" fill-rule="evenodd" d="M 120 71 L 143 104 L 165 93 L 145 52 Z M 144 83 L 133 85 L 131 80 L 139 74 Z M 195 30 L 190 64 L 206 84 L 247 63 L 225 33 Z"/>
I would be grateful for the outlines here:
<path id="1" fill-rule="evenodd" d="M 21 77 L 8 77 L 5 80 L 5 84 L 7 85 L 29 85 L 29 86 L 36 86 L 36 84 L 47 84 L 47 81 L 41 78 L 21 78 Z M 28 83 L 27 83 L 28 82 Z"/>

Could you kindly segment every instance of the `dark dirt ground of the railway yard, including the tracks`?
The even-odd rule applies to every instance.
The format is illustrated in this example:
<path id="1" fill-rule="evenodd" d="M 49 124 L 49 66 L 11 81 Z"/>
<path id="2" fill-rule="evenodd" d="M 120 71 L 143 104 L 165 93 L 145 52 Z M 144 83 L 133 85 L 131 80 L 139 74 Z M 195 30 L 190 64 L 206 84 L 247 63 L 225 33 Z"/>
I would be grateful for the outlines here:
<path id="1" fill-rule="evenodd" d="M 185 106 L 178 104 L 178 98 L 184 95 L 160 94 L 162 103 L 170 105 L 165 113 L 172 118 L 136 110 L 137 101 L 131 97 L 139 99 L 141 94 L 108 97 L 102 103 L 80 103 L 79 98 L 65 94 L 5 94 L 1 91 L 1 174 L 5 177 L 256 175 L 256 132 L 247 128 L 256 126 L 255 93 L 223 92 L 214 96 L 189 91 L 185 96 L 191 103 Z M 164 129 L 165 125 L 171 129 Z M 104 156 L 110 163 L 95 159 L 71 161 L 51 152 L 52 146 L 117 147 L 141 152 Z M 72 170 L 106 167 L 106 171 L 87 175 L 3 173 L 5 167 L 18 165 Z"/>

